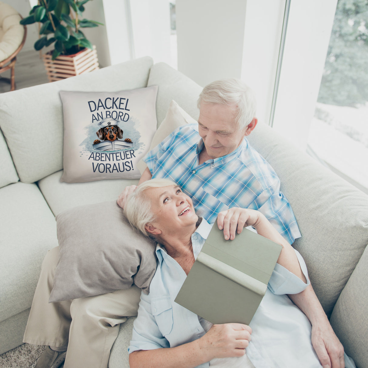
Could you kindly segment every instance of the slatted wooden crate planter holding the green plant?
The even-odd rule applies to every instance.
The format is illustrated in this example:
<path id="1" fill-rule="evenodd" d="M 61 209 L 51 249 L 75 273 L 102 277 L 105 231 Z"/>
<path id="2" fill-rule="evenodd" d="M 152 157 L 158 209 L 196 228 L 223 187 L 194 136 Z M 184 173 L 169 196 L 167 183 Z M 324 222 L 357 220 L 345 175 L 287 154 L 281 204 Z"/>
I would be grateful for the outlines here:
<path id="1" fill-rule="evenodd" d="M 49 53 L 42 57 L 50 82 L 99 69 L 96 46 L 93 50 L 84 49 L 74 55 L 59 55 L 55 60 Z"/>

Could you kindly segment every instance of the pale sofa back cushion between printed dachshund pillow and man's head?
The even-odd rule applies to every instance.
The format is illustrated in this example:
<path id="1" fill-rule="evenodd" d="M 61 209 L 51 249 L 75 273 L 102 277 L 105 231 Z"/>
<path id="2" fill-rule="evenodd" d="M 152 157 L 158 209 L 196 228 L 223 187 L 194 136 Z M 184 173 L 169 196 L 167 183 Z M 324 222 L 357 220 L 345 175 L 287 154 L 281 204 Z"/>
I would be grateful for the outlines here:
<path id="1" fill-rule="evenodd" d="M 191 117 L 198 119 L 197 100 L 202 87 L 165 63 L 157 63 L 149 72 L 148 86 L 158 85 L 156 114 L 158 125 L 166 116 L 171 100 L 175 100 Z"/>

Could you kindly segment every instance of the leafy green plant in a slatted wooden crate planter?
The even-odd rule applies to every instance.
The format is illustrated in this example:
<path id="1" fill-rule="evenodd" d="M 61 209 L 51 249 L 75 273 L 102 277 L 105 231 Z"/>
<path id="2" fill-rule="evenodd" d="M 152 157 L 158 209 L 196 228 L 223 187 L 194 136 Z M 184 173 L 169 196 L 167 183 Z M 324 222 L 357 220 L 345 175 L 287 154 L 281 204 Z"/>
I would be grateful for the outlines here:
<path id="1" fill-rule="evenodd" d="M 40 24 L 40 38 L 35 50 L 54 45 L 43 55 L 50 81 L 72 77 L 98 69 L 95 47 L 85 38 L 81 28 L 97 27 L 102 23 L 84 19 L 84 4 L 89 0 L 39 0 L 22 25 Z"/>

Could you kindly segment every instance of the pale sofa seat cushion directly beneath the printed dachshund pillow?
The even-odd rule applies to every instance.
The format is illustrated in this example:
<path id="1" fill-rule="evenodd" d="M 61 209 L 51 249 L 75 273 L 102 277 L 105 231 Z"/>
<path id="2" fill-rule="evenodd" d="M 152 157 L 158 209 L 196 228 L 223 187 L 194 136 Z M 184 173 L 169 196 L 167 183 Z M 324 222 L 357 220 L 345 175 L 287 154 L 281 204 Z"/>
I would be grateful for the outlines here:
<path id="1" fill-rule="evenodd" d="M 53 173 L 38 181 L 38 186 L 53 214 L 76 206 L 116 201 L 128 185 L 137 185 L 138 179 L 98 180 L 88 183 L 61 183 L 63 171 Z M 108 188 L 108 189 L 106 189 Z"/>

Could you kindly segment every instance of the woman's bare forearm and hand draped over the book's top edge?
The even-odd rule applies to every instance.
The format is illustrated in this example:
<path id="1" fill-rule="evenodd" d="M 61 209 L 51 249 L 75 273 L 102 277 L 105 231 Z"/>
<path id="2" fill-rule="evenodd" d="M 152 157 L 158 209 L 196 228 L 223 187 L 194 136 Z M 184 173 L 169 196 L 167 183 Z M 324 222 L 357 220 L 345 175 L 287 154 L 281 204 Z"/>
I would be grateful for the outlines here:
<path id="1" fill-rule="evenodd" d="M 277 263 L 294 273 L 294 275 L 298 276 L 304 283 L 307 283 L 307 279 L 300 268 L 294 248 L 279 234 L 261 212 L 252 209 L 233 207 L 219 213 L 217 216 L 217 226 L 220 230 L 224 230 L 224 237 L 226 240 L 233 240 L 236 233 L 240 234 L 241 231 L 243 231 L 243 227 L 253 226 L 259 235 L 282 245 Z"/>

